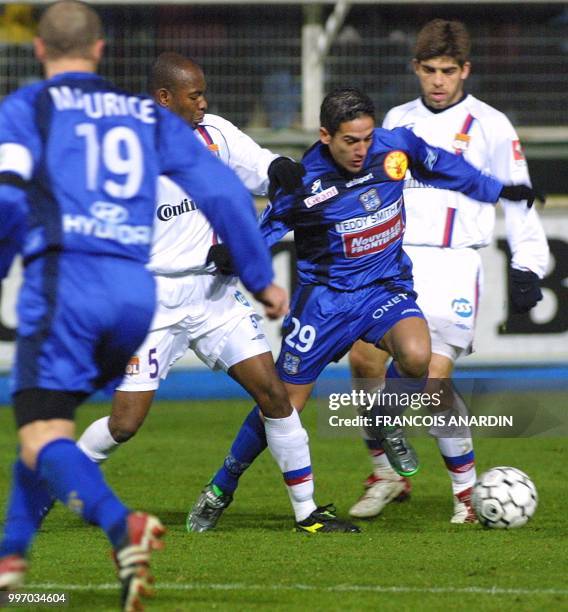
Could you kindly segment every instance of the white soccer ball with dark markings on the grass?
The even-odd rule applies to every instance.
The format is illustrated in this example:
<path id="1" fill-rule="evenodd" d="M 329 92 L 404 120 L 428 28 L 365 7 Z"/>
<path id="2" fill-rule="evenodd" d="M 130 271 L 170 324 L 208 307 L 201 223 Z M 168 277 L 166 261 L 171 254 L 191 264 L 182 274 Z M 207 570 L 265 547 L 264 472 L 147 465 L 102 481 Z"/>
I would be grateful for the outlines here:
<path id="1" fill-rule="evenodd" d="M 496 467 L 482 474 L 473 487 L 471 503 L 484 527 L 522 527 L 538 504 L 536 487 L 521 470 Z"/>

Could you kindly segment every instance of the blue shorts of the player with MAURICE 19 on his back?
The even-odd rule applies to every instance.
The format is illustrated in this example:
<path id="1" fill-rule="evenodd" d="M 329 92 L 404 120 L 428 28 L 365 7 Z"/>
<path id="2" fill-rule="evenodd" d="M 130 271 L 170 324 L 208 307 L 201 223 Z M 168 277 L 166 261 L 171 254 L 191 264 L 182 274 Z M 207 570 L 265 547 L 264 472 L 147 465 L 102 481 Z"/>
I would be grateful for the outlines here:
<path id="1" fill-rule="evenodd" d="M 154 308 L 154 279 L 139 262 L 82 253 L 32 261 L 18 300 L 13 393 L 91 394 L 120 380 Z"/>

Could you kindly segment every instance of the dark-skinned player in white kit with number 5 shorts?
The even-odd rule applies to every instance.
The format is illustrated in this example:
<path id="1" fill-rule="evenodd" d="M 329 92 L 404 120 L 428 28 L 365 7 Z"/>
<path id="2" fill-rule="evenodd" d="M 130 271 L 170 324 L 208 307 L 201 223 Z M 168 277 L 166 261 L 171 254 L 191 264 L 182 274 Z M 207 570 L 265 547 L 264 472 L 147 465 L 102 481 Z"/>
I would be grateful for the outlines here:
<path id="1" fill-rule="evenodd" d="M 229 121 L 206 114 L 205 77 L 192 60 L 177 53 L 160 55 L 150 89 L 156 101 L 185 119 L 252 193 L 266 193 L 269 179 L 285 189 L 301 184 L 301 164 L 262 149 Z M 198 207 L 175 183 L 160 177 L 149 263 L 158 294 L 151 331 L 130 361 L 110 417 L 92 423 L 78 444 L 93 461 L 102 462 L 129 440 L 144 422 L 160 379 L 191 348 L 211 369 L 228 372 L 257 402 L 256 418 L 249 418 L 249 425 L 266 432 L 288 487 L 297 529 L 358 531 L 329 512 L 322 513 L 313 501 L 307 433 L 276 374 L 261 317 L 239 291 L 237 279 L 218 273 L 222 262 L 217 257 L 223 250 L 215 248 L 217 237 Z M 281 316 L 270 306 L 266 314 Z M 231 469 L 240 469 L 238 453 L 236 449 Z M 230 493 L 207 485 L 199 507 L 188 516 L 188 530 L 209 529 L 231 501 Z"/>

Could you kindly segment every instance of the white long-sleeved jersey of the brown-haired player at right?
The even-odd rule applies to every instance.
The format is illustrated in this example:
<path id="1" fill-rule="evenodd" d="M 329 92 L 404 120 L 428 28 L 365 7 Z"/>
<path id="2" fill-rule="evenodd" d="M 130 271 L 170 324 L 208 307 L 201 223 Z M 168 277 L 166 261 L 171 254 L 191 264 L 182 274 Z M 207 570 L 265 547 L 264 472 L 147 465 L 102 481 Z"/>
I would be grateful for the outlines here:
<path id="1" fill-rule="evenodd" d="M 441 112 L 427 108 L 421 98 L 392 108 L 383 127 L 408 127 L 427 142 L 463 155 L 476 168 L 505 184 L 528 184 L 530 179 L 519 137 L 507 117 L 467 95 Z M 407 177 L 405 245 L 451 249 L 480 248 L 493 237 L 495 210 L 461 193 L 435 189 Z M 548 262 L 546 237 L 534 208 L 501 199 L 507 240 L 514 268 L 541 278 Z"/>

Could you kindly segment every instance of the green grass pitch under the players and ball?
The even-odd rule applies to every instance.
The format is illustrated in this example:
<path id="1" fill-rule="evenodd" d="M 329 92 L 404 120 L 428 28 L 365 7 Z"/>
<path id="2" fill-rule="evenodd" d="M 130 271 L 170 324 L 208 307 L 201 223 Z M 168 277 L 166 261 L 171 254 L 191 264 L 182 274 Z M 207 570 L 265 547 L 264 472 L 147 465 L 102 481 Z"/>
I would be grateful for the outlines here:
<path id="1" fill-rule="evenodd" d="M 478 471 L 513 465 L 536 483 L 539 508 L 519 530 L 450 525 L 445 468 L 435 443 L 420 438 L 422 470 L 412 500 L 360 522 L 362 534 L 294 533 L 282 478 L 265 453 L 243 477 L 218 528 L 190 535 L 186 512 L 249 406 L 159 402 L 138 436 L 104 468 L 128 505 L 157 514 L 168 528 L 167 547 L 154 556 L 158 595 L 148 610 L 568 610 L 566 438 L 477 441 Z M 83 407 L 79 430 L 107 410 Z M 317 500 L 334 502 L 346 516 L 361 493 L 368 460 L 357 440 L 319 436 L 315 412 L 308 408 L 304 421 Z M 2 506 L 14 446 L 12 415 L 0 410 Z M 65 591 L 66 609 L 117 609 L 104 535 L 62 506 L 37 537 L 28 584 Z"/>

